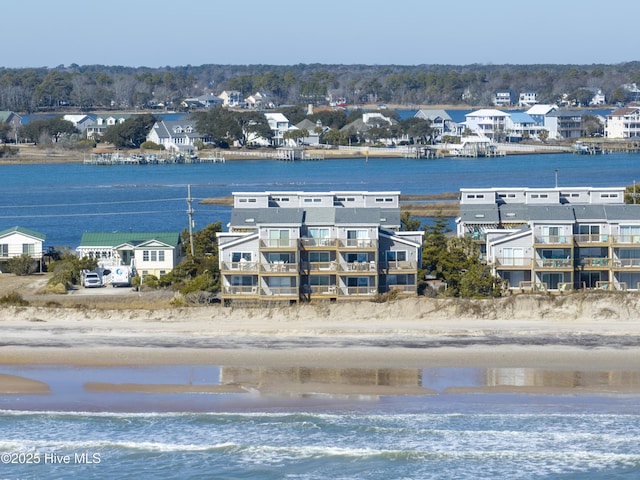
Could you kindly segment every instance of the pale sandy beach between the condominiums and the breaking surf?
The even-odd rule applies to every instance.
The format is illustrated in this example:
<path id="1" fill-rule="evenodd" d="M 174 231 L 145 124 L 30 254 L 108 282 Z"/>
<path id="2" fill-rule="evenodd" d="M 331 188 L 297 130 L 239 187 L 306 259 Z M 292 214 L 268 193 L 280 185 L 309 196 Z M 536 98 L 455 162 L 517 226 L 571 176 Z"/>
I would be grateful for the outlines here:
<path id="1" fill-rule="evenodd" d="M 419 380 L 422 369 L 457 368 L 499 379 L 463 381 L 448 393 L 637 394 L 639 311 L 632 294 L 272 308 L 5 307 L 0 366 L 83 368 L 91 372 L 83 384 L 90 393 L 432 394 Z M 144 382 L 100 375 L 104 367 L 179 365 L 220 366 L 222 380 L 194 386 L 165 383 L 157 373 Z M 46 393 L 26 371 L 0 377 L 0 394 Z M 513 384 L 504 380 L 513 376 Z"/>

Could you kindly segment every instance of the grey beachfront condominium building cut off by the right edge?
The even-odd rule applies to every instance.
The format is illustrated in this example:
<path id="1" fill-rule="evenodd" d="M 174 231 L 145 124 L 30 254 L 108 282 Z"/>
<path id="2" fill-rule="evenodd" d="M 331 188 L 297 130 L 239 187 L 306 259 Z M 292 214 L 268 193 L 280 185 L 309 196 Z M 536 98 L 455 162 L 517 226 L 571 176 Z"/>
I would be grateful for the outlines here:
<path id="1" fill-rule="evenodd" d="M 463 188 L 458 236 L 512 289 L 640 289 L 640 205 L 615 188 Z"/>

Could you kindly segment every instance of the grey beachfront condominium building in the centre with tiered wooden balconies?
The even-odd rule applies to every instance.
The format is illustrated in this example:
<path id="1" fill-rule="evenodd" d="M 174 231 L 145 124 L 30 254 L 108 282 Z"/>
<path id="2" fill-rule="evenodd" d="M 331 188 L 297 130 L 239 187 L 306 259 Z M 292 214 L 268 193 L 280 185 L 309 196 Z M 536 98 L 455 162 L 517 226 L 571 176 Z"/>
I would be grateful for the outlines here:
<path id="1" fill-rule="evenodd" d="M 415 295 L 423 232 L 400 231 L 399 192 L 236 192 L 218 234 L 221 296 L 369 300 Z"/>

